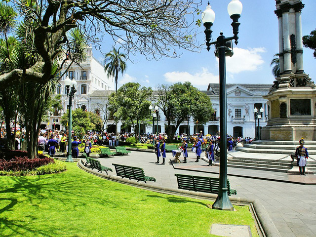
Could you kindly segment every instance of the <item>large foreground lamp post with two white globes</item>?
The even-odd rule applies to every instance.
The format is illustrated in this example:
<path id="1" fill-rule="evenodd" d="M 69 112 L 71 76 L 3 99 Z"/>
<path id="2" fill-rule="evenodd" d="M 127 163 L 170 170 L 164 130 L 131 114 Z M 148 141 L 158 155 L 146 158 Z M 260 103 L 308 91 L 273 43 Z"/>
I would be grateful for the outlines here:
<path id="1" fill-rule="evenodd" d="M 213 209 L 219 210 L 230 210 L 233 211 L 234 207 L 228 197 L 227 193 L 227 141 L 226 141 L 226 133 L 227 133 L 227 100 L 226 100 L 226 56 L 233 55 L 233 44 L 232 40 L 235 40 L 235 43 L 238 43 L 238 28 L 240 23 L 238 19 L 240 17 L 242 11 L 242 4 L 239 0 L 232 0 L 228 4 L 228 13 L 233 20 L 233 37 L 226 38 L 223 36 L 223 33 L 220 33 L 220 36 L 214 42 L 210 42 L 211 40 L 211 26 L 215 20 L 215 13 L 211 9 L 211 6 L 206 6 L 206 10 L 202 13 L 202 22 L 205 27 L 205 36 L 206 36 L 206 46 L 207 50 L 210 50 L 210 45 L 215 44 L 215 56 L 219 58 L 219 87 L 220 87 L 220 172 L 219 172 L 219 192 L 215 202 L 212 205 Z"/>

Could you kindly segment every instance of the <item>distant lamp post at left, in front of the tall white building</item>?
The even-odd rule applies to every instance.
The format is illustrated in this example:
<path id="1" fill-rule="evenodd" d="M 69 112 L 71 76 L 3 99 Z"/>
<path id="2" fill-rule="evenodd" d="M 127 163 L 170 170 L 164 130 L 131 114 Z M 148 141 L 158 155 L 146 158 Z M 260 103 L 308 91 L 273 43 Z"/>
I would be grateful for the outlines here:
<path id="1" fill-rule="evenodd" d="M 72 99 L 77 91 L 77 81 L 71 80 L 69 77 L 65 79 L 66 94 L 69 97 L 69 125 L 68 125 L 68 156 L 66 162 L 74 162 L 71 157 L 71 130 L 72 130 Z"/>

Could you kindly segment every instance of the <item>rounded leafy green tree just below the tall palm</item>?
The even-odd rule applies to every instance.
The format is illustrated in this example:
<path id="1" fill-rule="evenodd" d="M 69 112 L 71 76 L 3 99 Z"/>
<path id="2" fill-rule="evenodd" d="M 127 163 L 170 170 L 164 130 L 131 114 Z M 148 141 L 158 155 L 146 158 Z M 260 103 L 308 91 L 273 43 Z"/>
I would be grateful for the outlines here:
<path id="1" fill-rule="evenodd" d="M 138 134 L 140 123 L 151 118 L 148 108 L 151 105 L 149 99 L 152 93 L 151 87 L 141 87 L 139 83 L 128 82 L 122 85 L 116 94 L 113 93 L 109 97 L 110 110 L 115 112 L 115 120 L 130 123 L 135 134 Z"/>

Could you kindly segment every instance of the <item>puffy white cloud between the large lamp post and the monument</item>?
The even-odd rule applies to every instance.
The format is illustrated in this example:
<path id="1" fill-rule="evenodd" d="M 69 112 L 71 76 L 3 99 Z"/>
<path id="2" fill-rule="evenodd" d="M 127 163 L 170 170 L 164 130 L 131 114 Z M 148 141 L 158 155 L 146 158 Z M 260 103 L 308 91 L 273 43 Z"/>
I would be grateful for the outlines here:
<path id="1" fill-rule="evenodd" d="M 265 52 L 265 48 L 234 48 L 234 55 L 226 57 L 226 71 L 237 74 L 259 70 L 260 66 L 264 64 L 261 54 Z"/>

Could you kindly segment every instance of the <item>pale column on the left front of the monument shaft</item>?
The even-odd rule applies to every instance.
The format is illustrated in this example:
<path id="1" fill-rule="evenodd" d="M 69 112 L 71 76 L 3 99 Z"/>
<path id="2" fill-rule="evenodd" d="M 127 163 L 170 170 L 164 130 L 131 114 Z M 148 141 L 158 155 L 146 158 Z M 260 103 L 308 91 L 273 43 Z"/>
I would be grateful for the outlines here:
<path id="1" fill-rule="evenodd" d="M 284 48 L 284 73 L 291 73 L 291 43 L 289 29 L 289 9 L 284 8 L 282 13 L 283 48 Z"/>

